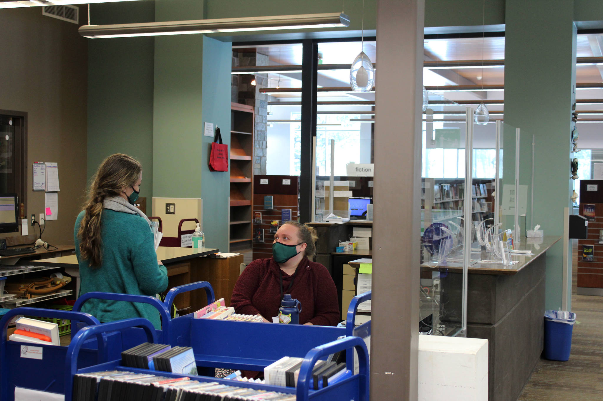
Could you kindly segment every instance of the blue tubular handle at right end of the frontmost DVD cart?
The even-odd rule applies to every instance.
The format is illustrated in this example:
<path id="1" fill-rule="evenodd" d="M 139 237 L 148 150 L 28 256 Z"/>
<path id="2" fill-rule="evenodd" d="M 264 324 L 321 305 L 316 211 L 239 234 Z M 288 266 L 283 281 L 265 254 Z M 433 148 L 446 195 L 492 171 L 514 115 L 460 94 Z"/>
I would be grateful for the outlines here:
<path id="1" fill-rule="evenodd" d="M 341 338 L 308 351 L 300 367 L 300 375 L 297 381 L 297 401 L 308 401 L 309 399 L 308 389 L 312 378 L 312 369 L 314 369 L 316 361 L 325 355 L 352 347 L 355 347 L 358 352 L 358 374 L 361 375 L 359 401 L 368 401 L 368 350 L 367 344 L 359 337 Z"/>

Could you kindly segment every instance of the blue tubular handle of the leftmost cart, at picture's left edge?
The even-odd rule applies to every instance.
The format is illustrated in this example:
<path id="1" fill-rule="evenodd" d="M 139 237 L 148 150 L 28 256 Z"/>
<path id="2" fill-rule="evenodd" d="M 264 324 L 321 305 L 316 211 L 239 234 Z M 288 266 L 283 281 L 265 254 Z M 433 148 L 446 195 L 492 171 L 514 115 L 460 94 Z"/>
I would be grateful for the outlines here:
<path id="1" fill-rule="evenodd" d="M 98 321 L 98 319 L 96 319 L 96 317 L 92 316 L 91 314 L 88 313 L 84 313 L 84 312 L 73 312 L 73 311 L 64 311 L 64 310 L 55 310 L 55 309 L 42 309 L 42 308 L 27 308 L 27 307 L 21 307 L 21 308 L 15 308 L 13 310 L 8 311 L 6 314 L 4 314 L 4 317 L 2 317 L 2 320 L 0 320 L 0 329 L 1 329 L 1 334 L 0 334 L 0 388 L 2 389 L 7 389 L 8 388 L 8 374 L 6 372 L 4 372 L 5 369 L 10 369 L 10 364 L 7 362 L 6 357 L 7 357 L 7 350 L 6 350 L 6 342 L 7 342 L 7 327 L 8 327 L 8 323 L 10 323 L 11 320 L 13 320 L 14 316 L 17 316 L 19 314 L 24 314 L 26 316 L 38 316 L 38 317 L 49 317 L 51 319 L 69 319 L 69 320 L 78 320 L 80 322 L 84 322 L 87 323 L 91 326 L 94 325 L 99 325 L 100 322 Z M 104 341 L 103 341 L 103 336 L 102 335 L 98 335 L 98 347 L 99 347 L 99 357 L 100 355 L 104 355 Z M 7 394 L 4 393 L 4 391 L 2 391 L 2 396 L 0 396 L 0 398 L 3 398 L 4 396 L 7 396 Z"/>

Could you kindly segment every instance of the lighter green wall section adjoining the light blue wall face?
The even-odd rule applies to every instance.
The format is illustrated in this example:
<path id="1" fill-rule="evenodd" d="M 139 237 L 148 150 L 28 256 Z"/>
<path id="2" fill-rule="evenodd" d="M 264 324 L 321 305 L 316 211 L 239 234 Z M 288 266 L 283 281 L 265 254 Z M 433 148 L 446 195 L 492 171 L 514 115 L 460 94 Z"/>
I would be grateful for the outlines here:
<path id="1" fill-rule="evenodd" d="M 158 21 L 203 19 L 203 1 L 156 1 L 155 5 Z M 154 197 L 201 197 L 202 70 L 203 35 L 155 38 Z"/>

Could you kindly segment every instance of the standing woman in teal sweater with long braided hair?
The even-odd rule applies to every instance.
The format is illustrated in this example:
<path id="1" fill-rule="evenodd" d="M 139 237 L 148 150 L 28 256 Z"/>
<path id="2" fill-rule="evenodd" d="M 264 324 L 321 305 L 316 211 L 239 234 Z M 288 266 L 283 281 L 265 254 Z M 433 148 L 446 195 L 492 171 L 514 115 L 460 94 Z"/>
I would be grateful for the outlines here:
<path id="1" fill-rule="evenodd" d="M 168 287 L 168 271 L 155 253 L 150 221 L 134 202 L 142 166 L 127 155 L 111 155 L 93 177 L 84 210 L 75 221 L 75 251 L 80 265 L 80 295 L 115 292 L 151 295 Z M 159 312 L 139 302 L 90 299 L 81 311 L 100 322 L 145 317 L 161 328 Z"/>

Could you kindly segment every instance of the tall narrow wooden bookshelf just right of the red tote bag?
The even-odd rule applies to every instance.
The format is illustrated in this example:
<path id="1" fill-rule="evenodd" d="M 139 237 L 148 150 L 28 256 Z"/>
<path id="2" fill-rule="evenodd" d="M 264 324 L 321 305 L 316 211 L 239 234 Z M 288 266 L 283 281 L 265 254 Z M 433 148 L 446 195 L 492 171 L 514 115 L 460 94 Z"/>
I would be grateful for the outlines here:
<path id="1" fill-rule="evenodd" d="M 231 251 L 251 248 L 253 201 L 253 106 L 230 104 L 230 213 Z"/>

